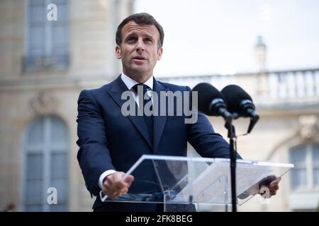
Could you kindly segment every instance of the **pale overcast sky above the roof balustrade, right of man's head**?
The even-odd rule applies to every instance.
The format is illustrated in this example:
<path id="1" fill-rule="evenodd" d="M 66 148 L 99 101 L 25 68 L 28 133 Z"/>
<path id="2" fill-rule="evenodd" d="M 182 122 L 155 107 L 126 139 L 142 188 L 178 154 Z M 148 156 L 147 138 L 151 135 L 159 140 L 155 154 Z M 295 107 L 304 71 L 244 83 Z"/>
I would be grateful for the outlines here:
<path id="1" fill-rule="evenodd" d="M 136 0 L 135 12 L 164 28 L 155 75 L 254 71 L 257 35 L 267 44 L 267 68 L 319 67 L 318 0 Z"/>

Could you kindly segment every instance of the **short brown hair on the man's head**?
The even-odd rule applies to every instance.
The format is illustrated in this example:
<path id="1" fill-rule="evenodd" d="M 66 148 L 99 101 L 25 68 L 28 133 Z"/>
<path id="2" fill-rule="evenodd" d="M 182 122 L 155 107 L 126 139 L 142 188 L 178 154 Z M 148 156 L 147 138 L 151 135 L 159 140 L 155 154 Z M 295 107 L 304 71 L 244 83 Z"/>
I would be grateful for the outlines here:
<path id="1" fill-rule="evenodd" d="M 135 21 L 137 24 L 144 24 L 144 25 L 155 25 L 157 30 L 159 31 L 159 40 L 158 40 L 158 47 L 163 46 L 164 42 L 164 30 L 162 26 L 155 20 L 155 18 L 148 14 L 148 13 L 135 13 L 131 16 L 125 18 L 120 25 L 118 25 L 118 30 L 116 30 L 116 44 L 121 45 L 122 43 L 122 28 L 125 24 L 130 21 Z"/>

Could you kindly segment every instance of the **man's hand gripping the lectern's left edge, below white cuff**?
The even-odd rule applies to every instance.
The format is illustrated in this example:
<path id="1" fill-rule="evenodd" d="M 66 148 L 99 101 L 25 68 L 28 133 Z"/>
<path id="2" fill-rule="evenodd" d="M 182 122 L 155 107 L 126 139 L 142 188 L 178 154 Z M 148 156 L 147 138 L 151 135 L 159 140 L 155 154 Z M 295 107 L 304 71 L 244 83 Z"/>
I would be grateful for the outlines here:
<path id="1" fill-rule="evenodd" d="M 124 172 L 114 172 L 113 174 L 108 175 L 103 181 L 103 194 L 106 194 L 110 198 L 118 198 L 119 196 L 126 194 L 134 177 L 128 175 L 123 179 L 124 175 Z"/>

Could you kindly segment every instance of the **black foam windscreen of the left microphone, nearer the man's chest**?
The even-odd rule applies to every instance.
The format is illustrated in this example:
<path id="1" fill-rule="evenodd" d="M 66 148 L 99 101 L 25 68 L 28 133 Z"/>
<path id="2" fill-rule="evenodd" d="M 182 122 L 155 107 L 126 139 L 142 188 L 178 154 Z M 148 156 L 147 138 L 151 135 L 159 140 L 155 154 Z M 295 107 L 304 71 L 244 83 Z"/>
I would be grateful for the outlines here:
<path id="1" fill-rule="evenodd" d="M 192 91 L 198 92 L 198 109 L 207 115 L 213 115 L 209 112 L 211 101 L 220 98 L 224 99 L 223 95 L 209 83 L 199 83 L 195 85 Z"/>

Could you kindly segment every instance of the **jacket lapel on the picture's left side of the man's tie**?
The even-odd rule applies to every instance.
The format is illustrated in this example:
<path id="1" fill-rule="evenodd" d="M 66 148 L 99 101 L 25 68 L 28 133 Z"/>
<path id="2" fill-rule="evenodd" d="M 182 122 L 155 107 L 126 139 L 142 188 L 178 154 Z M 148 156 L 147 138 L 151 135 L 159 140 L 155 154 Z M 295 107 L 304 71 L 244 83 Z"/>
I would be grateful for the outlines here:
<path id="1" fill-rule="evenodd" d="M 121 99 L 121 95 L 124 91 L 128 91 L 128 88 L 126 87 L 125 83 L 123 83 L 123 81 L 121 79 L 121 75 L 120 75 L 120 76 L 118 76 L 118 78 L 116 78 L 115 81 L 113 81 L 113 86 L 111 88 L 111 91 L 108 91 L 108 93 L 111 95 L 112 99 L 116 102 L 116 104 L 120 108 L 127 101 L 127 100 Z M 136 105 L 135 107 L 138 107 L 138 106 Z M 152 148 L 152 140 L 150 138 L 149 133 L 147 132 L 147 127 L 146 127 L 146 124 L 145 124 L 143 117 L 129 115 L 128 118 L 130 119 L 130 121 L 133 122 L 133 124 L 138 129 L 138 131 L 140 131 L 143 138 L 145 138 L 148 145 L 150 145 L 150 148 Z"/>

